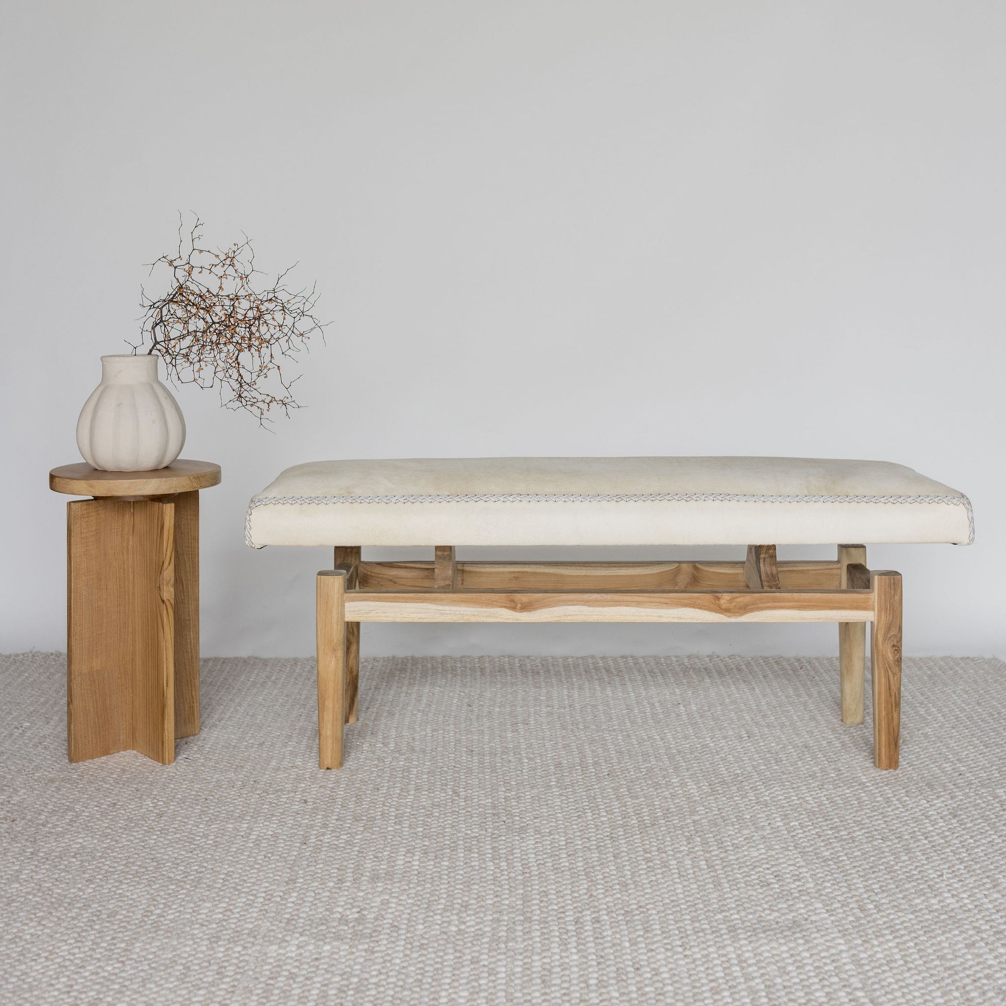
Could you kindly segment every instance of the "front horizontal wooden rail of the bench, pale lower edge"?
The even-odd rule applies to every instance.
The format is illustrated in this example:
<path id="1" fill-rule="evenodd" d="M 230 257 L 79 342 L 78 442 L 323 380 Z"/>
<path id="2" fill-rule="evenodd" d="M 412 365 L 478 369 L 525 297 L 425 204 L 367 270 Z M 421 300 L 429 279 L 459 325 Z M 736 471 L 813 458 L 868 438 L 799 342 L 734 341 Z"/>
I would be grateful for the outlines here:
<path id="1" fill-rule="evenodd" d="M 868 622 L 869 592 L 353 591 L 358 622 Z"/>

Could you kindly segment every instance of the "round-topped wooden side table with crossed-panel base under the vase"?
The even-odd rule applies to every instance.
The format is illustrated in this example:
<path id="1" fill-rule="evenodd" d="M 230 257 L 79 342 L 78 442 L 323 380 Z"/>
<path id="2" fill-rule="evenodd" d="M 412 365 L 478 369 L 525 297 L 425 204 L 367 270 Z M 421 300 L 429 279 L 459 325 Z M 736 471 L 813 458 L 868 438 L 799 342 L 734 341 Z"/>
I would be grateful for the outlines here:
<path id="1" fill-rule="evenodd" d="M 66 504 L 70 762 L 137 750 L 163 765 L 199 732 L 199 490 L 220 466 L 49 472 Z"/>

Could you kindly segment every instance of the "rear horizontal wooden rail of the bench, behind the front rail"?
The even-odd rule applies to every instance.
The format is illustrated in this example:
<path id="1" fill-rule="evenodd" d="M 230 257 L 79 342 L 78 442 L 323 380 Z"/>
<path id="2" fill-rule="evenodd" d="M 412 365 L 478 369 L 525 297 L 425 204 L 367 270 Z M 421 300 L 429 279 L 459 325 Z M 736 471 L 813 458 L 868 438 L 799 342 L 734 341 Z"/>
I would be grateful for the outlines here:
<path id="1" fill-rule="evenodd" d="M 835 591 L 836 561 L 779 562 L 785 590 Z M 457 588 L 474 591 L 741 590 L 743 562 L 458 562 Z M 361 562 L 365 591 L 434 590 L 432 562 Z M 867 584 L 868 585 L 868 584 Z"/>

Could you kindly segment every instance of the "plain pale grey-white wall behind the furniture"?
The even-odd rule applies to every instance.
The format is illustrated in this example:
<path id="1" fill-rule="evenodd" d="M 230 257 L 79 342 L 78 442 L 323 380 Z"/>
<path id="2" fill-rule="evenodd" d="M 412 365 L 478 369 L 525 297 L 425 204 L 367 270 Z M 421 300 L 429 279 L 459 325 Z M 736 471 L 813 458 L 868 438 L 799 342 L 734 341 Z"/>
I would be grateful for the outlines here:
<path id="1" fill-rule="evenodd" d="M 203 494 L 205 654 L 311 652 L 326 550 L 241 540 L 288 465 L 767 454 L 887 459 L 969 493 L 972 547 L 871 564 L 905 574 L 907 652 L 1006 656 L 998 0 L 8 2 L 0 39 L 0 650 L 64 645 L 46 472 L 77 460 L 98 357 L 126 351 L 142 264 L 192 209 L 268 268 L 300 260 L 334 322 L 275 435 L 178 393 L 184 456 L 224 470 Z M 406 626 L 365 646 L 832 653 L 835 635 Z"/>

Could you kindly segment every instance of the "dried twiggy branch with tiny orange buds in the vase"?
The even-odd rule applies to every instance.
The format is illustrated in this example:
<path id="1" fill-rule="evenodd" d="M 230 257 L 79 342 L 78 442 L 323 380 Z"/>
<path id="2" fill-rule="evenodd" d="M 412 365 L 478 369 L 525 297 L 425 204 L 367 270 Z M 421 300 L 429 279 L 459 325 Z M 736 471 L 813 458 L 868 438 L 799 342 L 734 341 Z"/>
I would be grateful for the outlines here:
<path id="1" fill-rule="evenodd" d="M 178 253 L 151 265 L 151 275 L 170 272 L 170 289 L 158 298 L 141 290 L 143 335 L 130 345 L 134 352 L 149 345 L 175 384 L 218 387 L 222 405 L 245 409 L 260 425 L 271 422 L 273 408 L 289 415 L 300 406 L 291 390 L 297 378 L 284 374 L 283 359 L 315 333 L 324 341 L 315 288 L 291 290 L 285 281 L 292 266 L 269 289 L 257 289 L 253 278 L 263 274 L 247 235 L 213 250 L 202 246 L 201 229 L 196 217 L 186 235 L 179 221 Z"/>

